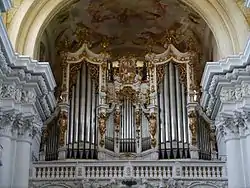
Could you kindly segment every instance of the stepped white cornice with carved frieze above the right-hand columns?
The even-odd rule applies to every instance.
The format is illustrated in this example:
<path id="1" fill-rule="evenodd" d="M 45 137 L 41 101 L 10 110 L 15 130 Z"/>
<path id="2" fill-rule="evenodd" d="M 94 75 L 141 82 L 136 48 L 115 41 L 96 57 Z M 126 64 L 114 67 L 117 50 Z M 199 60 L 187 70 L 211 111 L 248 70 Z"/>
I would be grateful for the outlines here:
<path id="1" fill-rule="evenodd" d="M 243 83 L 241 83 L 243 80 L 245 80 L 244 82 L 249 80 L 249 60 L 250 40 L 248 40 L 243 54 L 230 56 L 218 62 L 207 62 L 201 80 L 201 106 L 211 119 L 215 119 L 221 102 L 242 101 L 244 95 L 249 95 L 249 91 L 246 88 L 243 89 Z M 224 89 L 220 94 L 223 86 L 232 89 L 236 85 L 241 86 L 237 86 L 233 91 Z M 232 93 L 230 94 L 230 92 Z M 221 98 L 221 101 L 217 96 Z"/>

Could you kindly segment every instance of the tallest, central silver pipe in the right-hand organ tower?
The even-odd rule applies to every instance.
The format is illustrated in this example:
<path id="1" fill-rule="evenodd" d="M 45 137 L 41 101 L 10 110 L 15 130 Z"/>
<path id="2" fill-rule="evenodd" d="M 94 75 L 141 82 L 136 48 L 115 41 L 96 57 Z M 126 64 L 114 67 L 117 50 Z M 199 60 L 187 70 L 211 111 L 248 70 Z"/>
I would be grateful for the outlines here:
<path id="1" fill-rule="evenodd" d="M 171 111 L 171 127 L 172 127 L 172 140 L 176 140 L 177 128 L 176 128 L 176 101 L 175 101 L 175 81 L 174 81 L 174 66 L 173 63 L 169 63 L 169 89 L 170 89 L 170 111 Z"/>

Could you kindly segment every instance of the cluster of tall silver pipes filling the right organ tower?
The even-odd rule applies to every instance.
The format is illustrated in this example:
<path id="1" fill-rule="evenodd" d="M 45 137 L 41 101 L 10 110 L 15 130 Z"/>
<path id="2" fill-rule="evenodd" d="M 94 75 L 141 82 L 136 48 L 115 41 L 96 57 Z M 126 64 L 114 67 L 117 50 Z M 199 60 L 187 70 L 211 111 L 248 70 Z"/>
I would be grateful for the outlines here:
<path id="1" fill-rule="evenodd" d="M 159 85 L 159 146 L 162 159 L 187 158 L 188 144 L 186 142 L 187 110 L 184 83 L 181 83 L 177 65 L 170 62 L 165 65 L 165 75 Z"/>

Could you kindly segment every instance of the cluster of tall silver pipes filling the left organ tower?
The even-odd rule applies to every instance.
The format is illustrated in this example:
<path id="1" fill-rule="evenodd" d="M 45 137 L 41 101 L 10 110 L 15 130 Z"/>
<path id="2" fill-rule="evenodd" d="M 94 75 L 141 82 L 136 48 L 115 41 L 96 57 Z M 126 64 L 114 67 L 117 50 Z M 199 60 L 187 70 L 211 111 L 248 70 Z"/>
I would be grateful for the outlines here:
<path id="1" fill-rule="evenodd" d="M 77 73 L 76 84 L 72 88 L 70 101 L 70 122 L 68 131 L 68 157 L 96 158 L 96 106 L 94 80 L 86 63 Z"/>

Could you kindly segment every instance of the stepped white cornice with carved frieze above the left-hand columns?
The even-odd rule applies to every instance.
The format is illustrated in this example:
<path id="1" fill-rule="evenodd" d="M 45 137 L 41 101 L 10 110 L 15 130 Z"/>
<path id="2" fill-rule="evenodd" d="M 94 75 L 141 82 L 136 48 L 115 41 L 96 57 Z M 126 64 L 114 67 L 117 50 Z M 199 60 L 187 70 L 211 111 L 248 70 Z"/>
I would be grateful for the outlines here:
<path id="1" fill-rule="evenodd" d="M 49 63 L 14 53 L 2 20 L 0 47 L 2 110 L 14 108 L 27 114 L 39 114 L 46 121 L 56 106 L 56 83 Z"/>

